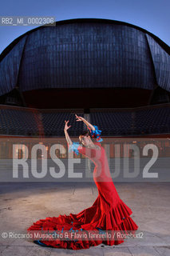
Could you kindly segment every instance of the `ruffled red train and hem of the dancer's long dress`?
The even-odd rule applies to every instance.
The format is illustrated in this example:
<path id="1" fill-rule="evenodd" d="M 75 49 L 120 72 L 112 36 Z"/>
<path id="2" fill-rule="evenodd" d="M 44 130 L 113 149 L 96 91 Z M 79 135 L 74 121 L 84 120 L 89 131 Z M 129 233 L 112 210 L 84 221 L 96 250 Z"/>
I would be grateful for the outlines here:
<path id="1" fill-rule="evenodd" d="M 130 215 L 132 210 L 120 198 L 117 206 L 110 207 L 109 210 L 101 212 L 98 207 L 98 198 L 93 203 L 93 206 L 82 210 L 79 214 L 59 215 L 58 217 L 48 217 L 34 222 L 27 231 L 30 230 L 115 230 L 122 231 L 126 234 L 127 230 L 135 231 L 138 229 L 136 223 L 132 220 Z M 134 234 L 134 233 L 133 233 Z M 97 246 L 101 243 L 113 246 L 125 242 L 125 240 L 113 239 L 98 239 L 93 240 L 90 238 L 78 240 L 61 240 L 55 239 L 51 241 L 41 242 L 34 240 L 41 246 L 50 246 L 56 248 L 65 248 L 73 250 L 88 249 L 90 246 Z"/>

